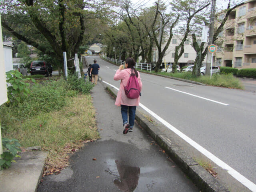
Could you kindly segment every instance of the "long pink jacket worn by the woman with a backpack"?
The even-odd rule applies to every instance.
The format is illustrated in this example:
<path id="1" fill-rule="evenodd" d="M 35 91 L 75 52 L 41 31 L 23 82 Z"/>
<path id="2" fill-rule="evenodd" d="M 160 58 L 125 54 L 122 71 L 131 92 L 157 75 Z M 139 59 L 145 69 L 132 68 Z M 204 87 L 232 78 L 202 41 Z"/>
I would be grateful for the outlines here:
<path id="1" fill-rule="evenodd" d="M 114 76 L 114 80 L 118 81 L 121 80 L 120 88 L 116 96 L 116 103 L 115 105 L 127 105 L 127 106 L 138 106 L 140 104 L 140 97 L 136 99 L 130 99 L 126 96 L 124 92 L 124 87 L 127 85 L 129 77 L 132 73 L 131 68 L 117 70 Z M 140 73 L 138 72 L 138 82 L 140 85 L 140 90 L 142 89 L 142 82 L 140 80 Z"/>

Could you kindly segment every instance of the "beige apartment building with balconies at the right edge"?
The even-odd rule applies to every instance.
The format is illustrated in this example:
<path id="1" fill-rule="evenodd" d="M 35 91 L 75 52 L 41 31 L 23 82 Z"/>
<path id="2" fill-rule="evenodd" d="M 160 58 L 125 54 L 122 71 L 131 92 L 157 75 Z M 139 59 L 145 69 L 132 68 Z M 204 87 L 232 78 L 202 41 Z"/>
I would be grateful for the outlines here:
<path id="1" fill-rule="evenodd" d="M 215 27 L 225 14 L 224 11 L 216 14 Z M 247 0 L 230 12 L 216 45 L 216 66 L 256 68 L 256 0 Z"/>

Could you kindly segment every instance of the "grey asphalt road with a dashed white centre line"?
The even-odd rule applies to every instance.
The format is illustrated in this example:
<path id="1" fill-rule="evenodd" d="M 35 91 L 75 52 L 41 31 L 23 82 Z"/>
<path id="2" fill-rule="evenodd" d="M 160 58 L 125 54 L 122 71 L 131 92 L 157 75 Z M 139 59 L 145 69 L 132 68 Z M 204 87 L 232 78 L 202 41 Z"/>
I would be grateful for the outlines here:
<path id="1" fill-rule="evenodd" d="M 119 87 L 118 66 L 99 57 L 99 76 Z M 256 184 L 256 93 L 141 74 L 140 102 Z"/>

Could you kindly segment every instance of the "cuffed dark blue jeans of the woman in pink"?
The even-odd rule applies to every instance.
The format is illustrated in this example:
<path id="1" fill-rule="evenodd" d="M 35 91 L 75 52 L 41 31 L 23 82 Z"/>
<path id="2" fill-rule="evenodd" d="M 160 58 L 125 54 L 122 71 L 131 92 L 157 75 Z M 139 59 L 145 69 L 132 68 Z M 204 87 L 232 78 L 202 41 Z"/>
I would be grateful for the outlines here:
<path id="1" fill-rule="evenodd" d="M 130 124 L 130 128 L 133 128 L 134 120 L 135 120 L 136 106 L 121 105 L 121 114 L 122 114 L 122 118 L 123 118 L 123 125 L 125 123 L 128 123 L 128 115 L 127 115 L 128 108 L 129 108 L 129 124 Z"/>

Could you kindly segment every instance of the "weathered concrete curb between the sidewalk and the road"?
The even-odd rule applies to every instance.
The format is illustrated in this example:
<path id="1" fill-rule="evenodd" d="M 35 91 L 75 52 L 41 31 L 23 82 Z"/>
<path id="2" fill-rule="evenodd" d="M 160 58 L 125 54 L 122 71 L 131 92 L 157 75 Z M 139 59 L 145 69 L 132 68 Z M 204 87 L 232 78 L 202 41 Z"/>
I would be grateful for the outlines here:
<path id="1" fill-rule="evenodd" d="M 117 90 L 104 84 L 106 90 L 116 97 Z M 170 156 L 170 158 L 188 175 L 192 181 L 200 188 L 202 192 L 229 192 L 222 184 L 208 173 L 202 166 L 191 157 L 188 156 L 182 147 L 174 144 L 162 131 L 162 125 L 151 123 L 143 114 L 148 114 L 142 108 L 136 110 L 136 120 L 138 124 L 145 129 L 148 134 L 161 146 L 162 149 Z M 149 114 L 150 115 L 150 114 Z M 154 117 L 150 116 L 157 122 Z"/>

